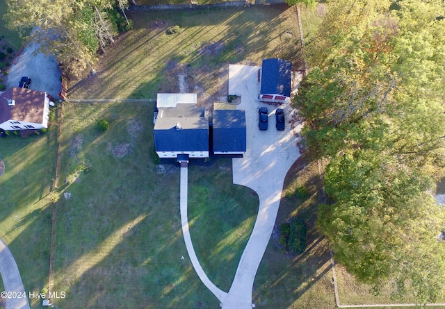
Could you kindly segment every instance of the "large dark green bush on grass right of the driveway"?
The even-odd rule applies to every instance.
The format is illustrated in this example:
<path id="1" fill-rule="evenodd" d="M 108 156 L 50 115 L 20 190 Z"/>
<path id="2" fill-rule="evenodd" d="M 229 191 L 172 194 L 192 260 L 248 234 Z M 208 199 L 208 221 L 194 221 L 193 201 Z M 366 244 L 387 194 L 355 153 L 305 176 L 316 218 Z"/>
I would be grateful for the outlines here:
<path id="1" fill-rule="evenodd" d="M 306 249 L 306 222 L 301 217 L 293 217 L 291 222 L 280 224 L 280 241 L 282 251 L 301 254 Z"/>

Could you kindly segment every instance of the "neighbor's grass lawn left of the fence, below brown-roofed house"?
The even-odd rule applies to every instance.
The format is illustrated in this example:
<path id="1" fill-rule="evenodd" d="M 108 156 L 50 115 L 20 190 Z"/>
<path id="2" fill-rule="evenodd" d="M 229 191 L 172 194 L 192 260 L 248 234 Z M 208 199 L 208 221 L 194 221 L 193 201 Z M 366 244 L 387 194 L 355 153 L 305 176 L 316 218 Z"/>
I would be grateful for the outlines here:
<path id="1" fill-rule="evenodd" d="M 56 167 L 57 132 L 0 139 L 0 237 L 13 253 L 26 292 L 47 285 L 51 249 L 50 190 Z"/>

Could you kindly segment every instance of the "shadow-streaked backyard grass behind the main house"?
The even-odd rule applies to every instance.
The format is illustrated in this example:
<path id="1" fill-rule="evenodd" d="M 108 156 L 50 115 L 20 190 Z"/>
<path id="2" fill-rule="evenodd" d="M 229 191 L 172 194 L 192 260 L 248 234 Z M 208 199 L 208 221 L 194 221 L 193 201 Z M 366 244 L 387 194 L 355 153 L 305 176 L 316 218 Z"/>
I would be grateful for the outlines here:
<path id="1" fill-rule="evenodd" d="M 156 98 L 186 91 L 199 98 L 227 96 L 229 63 L 261 65 L 264 58 L 297 60 L 295 8 L 268 6 L 214 10 L 131 12 L 134 28 L 106 49 L 97 74 L 70 83 L 70 98 Z M 179 25 L 168 35 L 169 26 Z M 222 89 L 223 88 L 223 89 Z M 212 101 L 213 103 L 213 101 Z"/>

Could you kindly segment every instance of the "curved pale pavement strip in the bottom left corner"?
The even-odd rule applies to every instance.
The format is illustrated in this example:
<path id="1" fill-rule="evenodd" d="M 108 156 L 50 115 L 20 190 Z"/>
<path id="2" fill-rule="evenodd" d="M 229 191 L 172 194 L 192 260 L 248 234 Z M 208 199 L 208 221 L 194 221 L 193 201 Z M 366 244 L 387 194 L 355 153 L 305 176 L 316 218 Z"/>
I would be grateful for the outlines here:
<path id="1" fill-rule="evenodd" d="M 0 273 L 6 292 L 15 292 L 20 298 L 6 298 L 6 309 L 29 309 L 28 297 L 22 298 L 25 289 L 20 277 L 19 268 L 8 246 L 0 240 Z"/>

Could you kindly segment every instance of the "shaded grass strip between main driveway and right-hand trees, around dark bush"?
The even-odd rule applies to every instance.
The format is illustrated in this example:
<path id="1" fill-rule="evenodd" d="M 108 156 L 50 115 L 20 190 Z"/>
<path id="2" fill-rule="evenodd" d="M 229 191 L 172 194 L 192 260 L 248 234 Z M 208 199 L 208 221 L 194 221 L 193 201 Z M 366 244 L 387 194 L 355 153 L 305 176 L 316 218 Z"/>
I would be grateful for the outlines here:
<path id="1" fill-rule="evenodd" d="M 305 201 L 295 195 L 302 185 L 310 194 Z M 316 208 L 322 201 L 320 188 L 316 162 L 308 164 L 300 158 L 293 164 L 284 182 L 273 235 L 255 277 L 257 308 L 334 308 L 329 246 L 315 227 Z M 286 255 L 277 245 L 278 226 L 293 216 L 302 217 L 307 224 L 307 249 L 299 256 Z"/>

